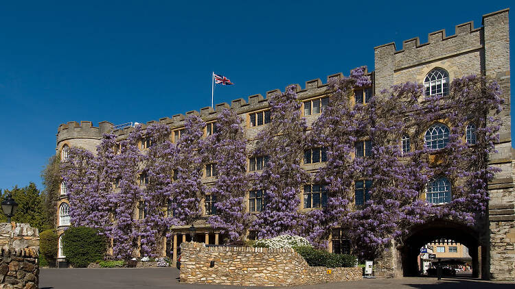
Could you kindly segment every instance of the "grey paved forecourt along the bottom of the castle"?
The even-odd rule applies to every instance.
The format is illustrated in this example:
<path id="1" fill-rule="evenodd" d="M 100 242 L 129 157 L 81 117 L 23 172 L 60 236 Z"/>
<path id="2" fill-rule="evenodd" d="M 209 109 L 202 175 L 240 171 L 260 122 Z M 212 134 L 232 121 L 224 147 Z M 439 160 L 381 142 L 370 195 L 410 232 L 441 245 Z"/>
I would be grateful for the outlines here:
<path id="1" fill-rule="evenodd" d="M 66 268 L 41 269 L 39 288 L 41 289 L 117 289 L 117 288 L 242 288 L 240 286 L 221 286 L 205 284 L 179 283 L 179 271 L 176 268 Z M 245 287 L 249 288 L 249 287 Z M 252 287 L 270 288 L 270 287 Z M 481 281 L 479 279 L 442 279 L 409 277 L 396 279 L 364 279 L 362 281 L 347 281 L 310 286 L 297 286 L 306 289 L 337 289 L 337 288 L 492 288 L 513 289 L 514 283 Z"/>

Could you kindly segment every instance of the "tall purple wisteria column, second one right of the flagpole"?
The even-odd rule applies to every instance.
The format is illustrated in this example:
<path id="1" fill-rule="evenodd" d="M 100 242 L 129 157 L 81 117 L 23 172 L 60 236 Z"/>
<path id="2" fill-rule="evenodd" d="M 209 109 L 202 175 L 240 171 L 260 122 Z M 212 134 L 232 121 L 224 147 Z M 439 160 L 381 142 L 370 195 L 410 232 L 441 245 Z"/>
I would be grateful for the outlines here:
<path id="1" fill-rule="evenodd" d="M 258 135 L 254 155 L 265 157 L 261 175 L 255 175 L 255 187 L 263 190 L 263 212 L 253 223 L 258 237 L 302 234 L 299 212 L 301 186 L 310 175 L 301 168 L 306 120 L 301 118 L 295 86 L 276 93 L 269 100 L 271 123 Z"/>

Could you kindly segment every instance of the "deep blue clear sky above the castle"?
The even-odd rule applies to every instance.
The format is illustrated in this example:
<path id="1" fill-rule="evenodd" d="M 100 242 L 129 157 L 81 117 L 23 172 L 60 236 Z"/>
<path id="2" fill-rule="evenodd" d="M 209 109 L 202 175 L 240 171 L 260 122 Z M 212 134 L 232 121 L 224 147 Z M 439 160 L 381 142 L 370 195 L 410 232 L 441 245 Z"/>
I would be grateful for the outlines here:
<path id="1" fill-rule="evenodd" d="M 176 3 L 177 2 L 177 3 Z M 510 1 L 4 1 L 0 188 L 41 186 L 67 121 L 144 123 L 366 65 Z M 189 4 L 192 3 L 192 4 Z M 511 15 L 514 18 L 513 14 Z M 514 27 L 510 19 L 510 25 Z M 513 31 L 513 28 L 512 28 Z M 513 34 L 512 34 L 513 35 Z M 514 38 L 512 37 L 512 43 Z M 513 47 L 513 45 L 512 45 Z"/>

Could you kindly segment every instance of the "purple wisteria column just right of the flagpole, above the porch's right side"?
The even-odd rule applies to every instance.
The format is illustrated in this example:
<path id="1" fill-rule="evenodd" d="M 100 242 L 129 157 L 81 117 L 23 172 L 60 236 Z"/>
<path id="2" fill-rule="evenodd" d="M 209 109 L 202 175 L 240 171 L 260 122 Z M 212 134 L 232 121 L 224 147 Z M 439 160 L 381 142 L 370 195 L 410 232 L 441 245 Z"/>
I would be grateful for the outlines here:
<path id="1" fill-rule="evenodd" d="M 242 127 L 242 118 L 233 110 L 223 110 L 217 118 L 218 132 L 214 144 L 207 147 L 214 153 L 218 176 L 211 194 L 216 196 L 216 214 L 209 217 L 213 227 L 229 233 L 229 242 L 242 241 L 250 225 L 249 214 L 245 212 L 247 181 L 247 140 Z"/>

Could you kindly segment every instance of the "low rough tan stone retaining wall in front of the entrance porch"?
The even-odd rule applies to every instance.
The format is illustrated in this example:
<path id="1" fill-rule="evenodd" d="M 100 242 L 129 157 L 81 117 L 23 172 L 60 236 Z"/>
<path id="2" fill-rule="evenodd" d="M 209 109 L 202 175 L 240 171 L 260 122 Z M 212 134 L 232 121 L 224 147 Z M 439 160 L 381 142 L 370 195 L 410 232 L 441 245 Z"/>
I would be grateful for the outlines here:
<path id="1" fill-rule="evenodd" d="M 214 266 L 211 267 L 211 261 Z M 181 244 L 181 282 L 241 285 L 295 286 L 361 280 L 362 268 L 310 267 L 293 249 L 205 247 Z"/>

